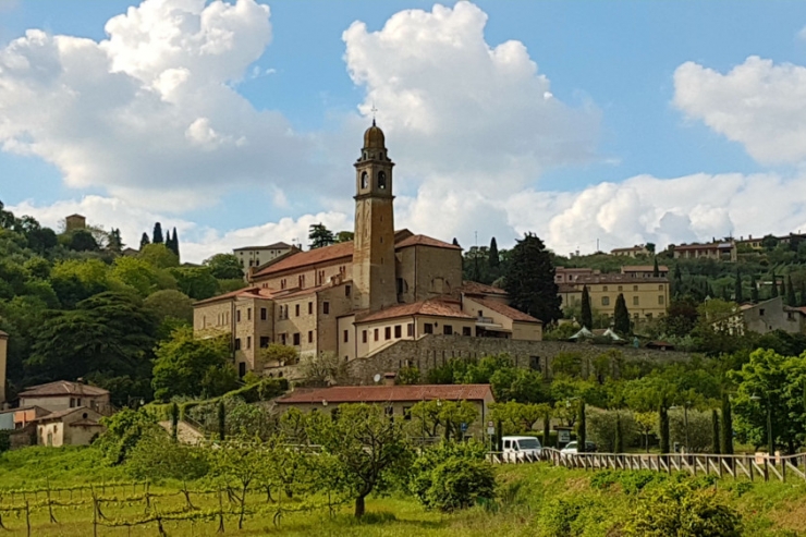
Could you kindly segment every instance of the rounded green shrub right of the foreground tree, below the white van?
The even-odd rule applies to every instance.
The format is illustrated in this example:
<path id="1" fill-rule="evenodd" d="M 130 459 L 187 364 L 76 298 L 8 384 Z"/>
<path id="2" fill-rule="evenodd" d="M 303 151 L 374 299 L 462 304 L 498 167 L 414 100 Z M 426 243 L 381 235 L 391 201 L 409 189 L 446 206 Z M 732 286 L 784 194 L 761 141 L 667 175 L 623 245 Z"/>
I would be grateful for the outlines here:
<path id="1" fill-rule="evenodd" d="M 466 509 L 479 498 L 496 496 L 492 467 L 475 459 L 449 459 L 431 471 L 430 480 L 424 503 L 444 512 Z"/>

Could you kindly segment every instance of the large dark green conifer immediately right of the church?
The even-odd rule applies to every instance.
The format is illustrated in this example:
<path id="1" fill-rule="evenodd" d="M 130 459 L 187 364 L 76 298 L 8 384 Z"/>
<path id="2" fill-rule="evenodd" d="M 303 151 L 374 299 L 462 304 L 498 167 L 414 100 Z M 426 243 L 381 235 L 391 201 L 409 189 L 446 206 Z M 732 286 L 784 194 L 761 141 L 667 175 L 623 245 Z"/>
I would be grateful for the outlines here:
<path id="1" fill-rule="evenodd" d="M 505 291 L 512 307 L 546 324 L 562 317 L 562 298 L 554 282 L 554 266 L 537 235 L 527 233 L 512 248 Z"/>

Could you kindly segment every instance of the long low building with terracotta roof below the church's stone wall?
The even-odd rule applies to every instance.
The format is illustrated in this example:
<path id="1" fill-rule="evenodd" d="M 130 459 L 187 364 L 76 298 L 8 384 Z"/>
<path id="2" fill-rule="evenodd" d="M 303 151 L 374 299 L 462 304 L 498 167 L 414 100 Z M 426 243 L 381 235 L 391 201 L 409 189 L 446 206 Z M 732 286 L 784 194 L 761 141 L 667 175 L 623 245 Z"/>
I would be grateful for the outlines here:
<path id="1" fill-rule="evenodd" d="M 290 407 L 303 412 L 333 411 L 345 403 L 382 405 L 388 416 L 412 419 L 411 408 L 422 401 L 467 401 L 478 410 L 478 417 L 468 434 L 478 432 L 489 416 L 489 405 L 494 403 L 490 385 L 415 385 L 415 386 L 333 386 L 314 390 L 297 389 L 276 401 L 278 408 Z"/>

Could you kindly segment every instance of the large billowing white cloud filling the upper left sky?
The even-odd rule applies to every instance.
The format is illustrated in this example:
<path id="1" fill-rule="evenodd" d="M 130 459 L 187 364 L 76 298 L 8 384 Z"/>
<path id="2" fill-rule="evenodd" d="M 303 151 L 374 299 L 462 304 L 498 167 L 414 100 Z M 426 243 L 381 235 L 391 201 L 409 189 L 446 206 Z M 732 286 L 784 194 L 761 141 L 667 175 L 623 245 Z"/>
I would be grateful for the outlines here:
<path id="1" fill-rule="evenodd" d="M 146 0 L 106 30 L 100 42 L 28 30 L 0 49 L 3 150 L 159 210 L 296 187 L 308 144 L 232 87 L 271 40 L 268 7 Z"/>

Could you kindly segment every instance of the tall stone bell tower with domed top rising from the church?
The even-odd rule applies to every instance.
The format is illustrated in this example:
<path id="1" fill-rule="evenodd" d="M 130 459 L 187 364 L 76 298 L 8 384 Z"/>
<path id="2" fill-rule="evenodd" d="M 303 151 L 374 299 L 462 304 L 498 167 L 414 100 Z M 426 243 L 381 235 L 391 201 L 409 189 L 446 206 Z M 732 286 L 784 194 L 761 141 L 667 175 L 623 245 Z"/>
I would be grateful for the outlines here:
<path id="1" fill-rule="evenodd" d="M 355 162 L 353 307 L 377 310 L 398 303 L 392 167 L 383 131 L 373 120 Z"/>

